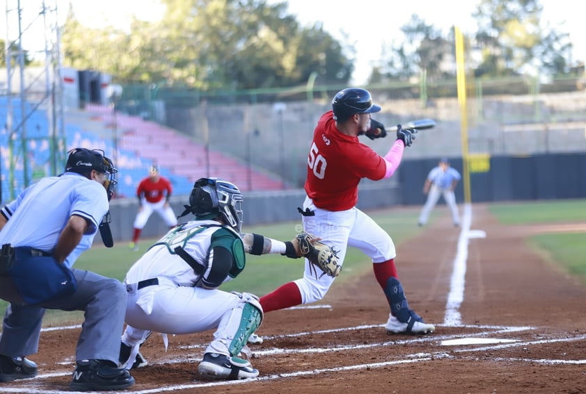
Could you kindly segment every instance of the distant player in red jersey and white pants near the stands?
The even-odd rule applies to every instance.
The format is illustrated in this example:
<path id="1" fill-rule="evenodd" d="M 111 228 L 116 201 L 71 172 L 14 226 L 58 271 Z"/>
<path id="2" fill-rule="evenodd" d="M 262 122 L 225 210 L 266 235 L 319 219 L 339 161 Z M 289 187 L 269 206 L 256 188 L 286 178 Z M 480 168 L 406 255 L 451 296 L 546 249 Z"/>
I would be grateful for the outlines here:
<path id="1" fill-rule="evenodd" d="M 148 177 L 138 183 L 138 188 L 136 188 L 138 213 L 134 219 L 134 233 L 129 245 L 132 250 L 138 250 L 138 238 L 141 237 L 141 232 L 154 211 L 161 216 L 170 229 L 177 226 L 177 217 L 169 205 L 172 192 L 171 182 L 165 177 L 161 177 L 157 167 L 151 166 L 148 169 Z"/>

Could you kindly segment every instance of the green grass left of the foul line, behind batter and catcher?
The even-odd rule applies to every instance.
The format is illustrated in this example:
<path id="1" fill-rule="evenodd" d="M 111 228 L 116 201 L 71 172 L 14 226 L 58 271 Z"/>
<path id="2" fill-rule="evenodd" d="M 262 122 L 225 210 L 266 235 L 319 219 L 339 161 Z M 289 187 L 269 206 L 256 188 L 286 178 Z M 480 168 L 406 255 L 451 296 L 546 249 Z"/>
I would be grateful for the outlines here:
<path id="1" fill-rule="evenodd" d="M 422 231 L 417 227 L 417 214 L 413 210 L 407 212 L 400 209 L 384 213 L 372 212 L 373 217 L 388 231 L 395 245 L 404 240 L 416 236 Z M 301 231 L 301 221 L 286 222 L 280 224 L 268 224 L 255 227 L 244 227 L 244 232 L 259 233 L 278 240 L 291 240 L 296 233 Z M 127 243 L 116 243 L 114 247 L 106 248 L 101 244 L 95 244 L 91 249 L 81 254 L 74 267 L 80 270 L 90 270 L 106 277 L 113 277 L 122 281 L 130 266 L 140 257 L 156 239 L 141 240 L 138 244 L 139 252 L 129 249 Z M 344 271 L 361 274 L 372 270 L 368 258 L 358 251 L 350 248 L 346 254 Z M 264 295 L 271 292 L 281 284 L 303 276 L 303 260 L 301 258 L 287 258 L 279 255 L 252 256 L 246 255 L 246 269 L 236 279 L 222 285 L 222 290 L 246 291 L 255 295 Z M 336 284 L 351 279 L 354 275 L 342 274 L 336 279 Z M 0 300 L 0 315 L 3 316 L 8 304 Z M 65 312 L 47 310 L 43 325 L 70 325 L 83 321 L 82 312 Z"/>

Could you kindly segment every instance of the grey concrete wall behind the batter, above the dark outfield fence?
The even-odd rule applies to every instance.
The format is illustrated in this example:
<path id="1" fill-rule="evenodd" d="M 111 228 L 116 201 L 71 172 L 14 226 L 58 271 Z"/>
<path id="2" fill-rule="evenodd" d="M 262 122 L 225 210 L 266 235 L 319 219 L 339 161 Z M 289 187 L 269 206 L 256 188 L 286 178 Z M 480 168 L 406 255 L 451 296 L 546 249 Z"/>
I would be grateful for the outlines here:
<path id="1" fill-rule="evenodd" d="M 390 100 L 377 92 L 383 110 L 374 115 L 388 128 L 410 120 L 431 117 L 435 129 L 420 131 L 404 158 L 461 156 L 461 110 L 456 98 Z M 200 104 L 166 106 L 169 126 L 195 140 L 208 142 L 212 150 L 232 154 L 258 168 L 301 187 L 307 152 L 319 116 L 331 108 L 331 99 L 314 102 Z M 282 106 L 280 107 L 282 108 Z M 468 99 L 468 149 L 470 153 L 525 155 L 586 151 L 586 93 L 488 96 Z M 393 135 L 363 142 L 386 154 Z"/>

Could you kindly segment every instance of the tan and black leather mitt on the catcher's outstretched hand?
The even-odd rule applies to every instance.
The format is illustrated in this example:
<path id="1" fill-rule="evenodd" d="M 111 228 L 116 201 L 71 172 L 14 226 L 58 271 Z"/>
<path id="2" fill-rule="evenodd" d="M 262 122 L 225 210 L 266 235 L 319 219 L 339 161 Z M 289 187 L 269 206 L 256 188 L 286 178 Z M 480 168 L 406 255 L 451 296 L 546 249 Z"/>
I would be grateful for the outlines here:
<path id="1" fill-rule="evenodd" d="M 342 266 L 338 264 L 338 255 L 335 250 L 319 242 L 319 238 L 313 234 L 300 233 L 295 237 L 293 243 L 295 249 L 299 247 L 299 253 L 310 261 L 312 267 L 317 267 L 324 272 L 320 277 L 327 274 L 335 278 L 340 274 Z"/>

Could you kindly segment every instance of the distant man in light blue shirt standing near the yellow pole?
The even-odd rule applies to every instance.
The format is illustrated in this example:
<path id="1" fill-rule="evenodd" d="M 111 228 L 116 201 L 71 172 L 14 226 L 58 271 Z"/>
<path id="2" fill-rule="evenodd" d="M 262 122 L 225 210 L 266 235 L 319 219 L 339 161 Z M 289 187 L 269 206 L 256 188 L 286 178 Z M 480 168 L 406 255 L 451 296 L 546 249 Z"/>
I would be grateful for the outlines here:
<path id="1" fill-rule="evenodd" d="M 460 173 L 450 166 L 450 161 L 447 158 L 441 158 L 438 166 L 431 169 L 423 185 L 423 194 L 427 195 L 427 201 L 419 215 L 418 224 L 420 226 L 427 223 L 429 213 L 436 206 L 439 197 L 443 196 L 445 204 L 448 204 L 450 212 L 452 212 L 452 223 L 455 227 L 459 227 L 460 216 L 458 215 L 454 189 L 460 179 Z"/>

